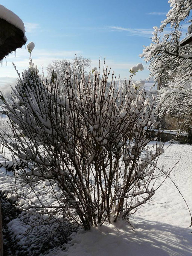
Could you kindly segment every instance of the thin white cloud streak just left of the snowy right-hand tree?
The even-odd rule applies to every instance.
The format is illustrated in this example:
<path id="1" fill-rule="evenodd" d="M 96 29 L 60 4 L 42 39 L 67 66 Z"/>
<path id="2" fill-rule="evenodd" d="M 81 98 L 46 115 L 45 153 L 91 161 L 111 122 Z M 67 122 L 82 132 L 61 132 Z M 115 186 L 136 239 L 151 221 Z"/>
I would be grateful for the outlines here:
<path id="1" fill-rule="evenodd" d="M 132 29 L 132 28 L 125 28 L 125 27 L 118 27 L 118 26 L 110 26 L 111 29 L 116 31 L 126 31 L 129 32 L 130 36 L 145 36 L 150 37 L 152 36 L 153 29 Z"/>

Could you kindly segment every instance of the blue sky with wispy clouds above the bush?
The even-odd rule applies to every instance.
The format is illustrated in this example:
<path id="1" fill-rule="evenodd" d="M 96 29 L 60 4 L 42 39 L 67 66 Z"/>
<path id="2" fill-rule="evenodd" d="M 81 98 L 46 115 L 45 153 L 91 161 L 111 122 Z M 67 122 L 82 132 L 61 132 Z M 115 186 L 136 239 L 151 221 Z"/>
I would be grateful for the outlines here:
<path id="1" fill-rule="evenodd" d="M 153 26 L 160 26 L 170 7 L 168 0 L 1 0 L 24 22 L 27 43 L 33 41 L 32 58 L 46 71 L 54 59 L 72 59 L 81 54 L 98 66 L 99 56 L 123 79 L 131 66 L 142 62 L 145 70 L 137 79 L 148 77 L 147 65 L 139 58 L 149 45 Z M 4 61 L 0 77 L 17 77 L 29 66 L 29 53 L 22 47 Z"/>

